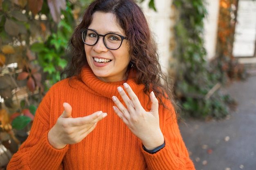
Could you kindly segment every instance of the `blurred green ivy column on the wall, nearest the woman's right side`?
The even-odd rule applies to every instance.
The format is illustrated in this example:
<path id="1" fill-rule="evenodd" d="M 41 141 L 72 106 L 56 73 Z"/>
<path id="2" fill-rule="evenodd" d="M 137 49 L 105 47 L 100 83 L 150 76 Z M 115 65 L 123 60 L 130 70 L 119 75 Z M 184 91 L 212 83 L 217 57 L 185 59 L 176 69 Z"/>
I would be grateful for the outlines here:
<path id="1" fill-rule="evenodd" d="M 227 103 L 232 99 L 218 91 L 218 77 L 214 77 L 204 59 L 207 54 L 203 41 L 203 19 L 207 15 L 204 1 L 174 0 L 173 3 L 180 13 L 175 26 L 177 48 L 174 56 L 178 62 L 175 94 L 186 115 L 225 117 Z"/>

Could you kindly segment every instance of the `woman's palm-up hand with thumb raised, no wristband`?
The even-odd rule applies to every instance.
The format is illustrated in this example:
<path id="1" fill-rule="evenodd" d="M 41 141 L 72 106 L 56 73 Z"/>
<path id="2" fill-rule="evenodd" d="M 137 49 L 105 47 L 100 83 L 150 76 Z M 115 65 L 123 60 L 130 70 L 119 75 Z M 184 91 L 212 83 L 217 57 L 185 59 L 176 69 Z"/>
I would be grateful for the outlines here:
<path id="1" fill-rule="evenodd" d="M 62 149 L 67 144 L 79 143 L 94 130 L 98 121 L 107 116 L 107 113 L 98 111 L 89 116 L 72 118 L 70 104 L 64 103 L 63 107 L 62 115 L 48 132 L 49 144 L 56 149 Z"/>

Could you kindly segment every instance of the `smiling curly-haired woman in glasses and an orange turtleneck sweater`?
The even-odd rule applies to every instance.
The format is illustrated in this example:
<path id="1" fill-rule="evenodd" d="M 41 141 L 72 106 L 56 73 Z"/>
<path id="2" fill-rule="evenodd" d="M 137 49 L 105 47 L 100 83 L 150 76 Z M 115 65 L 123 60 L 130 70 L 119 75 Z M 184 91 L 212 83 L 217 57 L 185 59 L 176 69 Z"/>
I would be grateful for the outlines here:
<path id="1" fill-rule="evenodd" d="M 156 50 L 134 1 L 92 2 L 8 170 L 193 170 Z"/>

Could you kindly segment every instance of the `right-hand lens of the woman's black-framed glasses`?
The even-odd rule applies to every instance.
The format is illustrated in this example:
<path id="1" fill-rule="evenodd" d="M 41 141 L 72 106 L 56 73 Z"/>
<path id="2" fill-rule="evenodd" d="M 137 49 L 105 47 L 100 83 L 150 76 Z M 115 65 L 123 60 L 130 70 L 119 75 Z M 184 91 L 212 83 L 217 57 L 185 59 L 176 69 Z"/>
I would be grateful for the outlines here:
<path id="1" fill-rule="evenodd" d="M 121 46 L 122 38 L 116 34 L 106 34 L 104 42 L 109 49 L 116 50 Z"/>

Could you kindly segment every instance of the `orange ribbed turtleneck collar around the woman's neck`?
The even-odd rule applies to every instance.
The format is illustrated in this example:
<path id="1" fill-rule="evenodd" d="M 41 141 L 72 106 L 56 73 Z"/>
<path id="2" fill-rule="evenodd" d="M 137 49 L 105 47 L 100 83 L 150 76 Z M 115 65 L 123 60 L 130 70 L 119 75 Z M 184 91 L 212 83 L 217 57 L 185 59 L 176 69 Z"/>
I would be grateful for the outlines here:
<path id="1" fill-rule="evenodd" d="M 112 98 L 113 95 L 119 96 L 117 91 L 117 87 L 121 86 L 124 88 L 123 84 L 127 82 L 132 90 L 137 93 L 139 91 L 143 91 L 144 85 L 137 85 L 135 82 L 135 71 L 130 71 L 128 75 L 127 81 L 120 82 L 103 82 L 99 78 L 97 78 L 92 69 L 88 66 L 85 66 L 81 70 L 81 79 L 83 83 L 90 88 L 91 93 L 95 93 L 95 95 L 101 95 L 103 97 Z"/>

